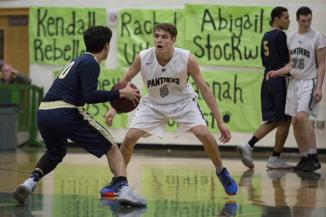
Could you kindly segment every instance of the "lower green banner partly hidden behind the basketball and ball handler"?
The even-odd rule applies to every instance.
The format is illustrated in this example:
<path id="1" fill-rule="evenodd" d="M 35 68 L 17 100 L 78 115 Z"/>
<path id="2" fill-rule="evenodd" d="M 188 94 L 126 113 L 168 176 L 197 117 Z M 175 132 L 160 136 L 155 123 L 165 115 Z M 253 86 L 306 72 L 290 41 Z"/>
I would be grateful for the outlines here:
<path id="1" fill-rule="evenodd" d="M 55 71 L 55 77 L 59 75 L 61 71 Z M 98 77 L 97 89 L 99 90 L 111 90 L 114 84 L 118 83 L 122 76 L 124 75 L 125 70 L 123 69 L 107 69 L 101 70 L 101 73 Z M 107 103 L 97 103 L 97 104 L 85 104 L 84 109 L 92 115 L 95 120 L 100 123 L 105 128 L 108 128 L 104 122 L 104 115 L 110 109 L 111 105 Z M 119 128 L 128 128 L 128 115 L 127 113 L 116 113 L 116 116 L 113 119 L 113 126 L 108 129 L 119 129 Z M 114 136 L 114 135 L 113 135 Z"/>

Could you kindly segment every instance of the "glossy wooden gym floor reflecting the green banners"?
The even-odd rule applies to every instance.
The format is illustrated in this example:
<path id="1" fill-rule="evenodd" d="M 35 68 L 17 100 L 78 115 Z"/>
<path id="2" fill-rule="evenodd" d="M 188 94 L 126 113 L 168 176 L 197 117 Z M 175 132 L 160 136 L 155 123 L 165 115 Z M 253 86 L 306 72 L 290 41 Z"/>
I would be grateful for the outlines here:
<path id="1" fill-rule="evenodd" d="M 106 159 L 69 148 L 64 161 L 41 179 L 19 204 L 11 192 L 29 177 L 44 149 L 0 152 L 0 216 L 326 216 L 326 162 L 316 172 L 268 170 L 267 157 L 255 158 L 254 169 L 221 152 L 223 164 L 239 185 L 225 194 L 213 165 L 200 151 L 136 151 L 127 168 L 133 190 L 147 207 L 120 207 L 99 191 L 112 173 Z M 197 157 L 195 157 L 197 156 Z M 296 164 L 297 158 L 285 159 Z"/>

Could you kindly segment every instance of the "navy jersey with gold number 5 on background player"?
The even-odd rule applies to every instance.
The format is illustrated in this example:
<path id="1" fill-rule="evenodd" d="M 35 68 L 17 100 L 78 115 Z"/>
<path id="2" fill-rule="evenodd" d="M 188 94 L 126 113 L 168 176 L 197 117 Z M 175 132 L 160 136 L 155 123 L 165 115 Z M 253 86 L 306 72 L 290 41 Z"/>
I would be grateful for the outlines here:
<path id="1" fill-rule="evenodd" d="M 278 70 L 289 62 L 286 35 L 282 30 L 272 28 L 261 40 L 261 59 L 265 68 L 264 77 L 270 70 Z"/>

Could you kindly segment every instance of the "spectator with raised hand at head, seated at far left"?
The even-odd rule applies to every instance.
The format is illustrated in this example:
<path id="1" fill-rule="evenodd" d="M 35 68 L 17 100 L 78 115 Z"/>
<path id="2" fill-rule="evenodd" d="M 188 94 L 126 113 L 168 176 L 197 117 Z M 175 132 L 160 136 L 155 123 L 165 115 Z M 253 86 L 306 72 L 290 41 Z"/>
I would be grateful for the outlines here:
<path id="1" fill-rule="evenodd" d="M 1 68 L 1 73 L 0 84 L 31 84 L 31 79 L 28 76 L 18 72 L 8 64 Z"/>

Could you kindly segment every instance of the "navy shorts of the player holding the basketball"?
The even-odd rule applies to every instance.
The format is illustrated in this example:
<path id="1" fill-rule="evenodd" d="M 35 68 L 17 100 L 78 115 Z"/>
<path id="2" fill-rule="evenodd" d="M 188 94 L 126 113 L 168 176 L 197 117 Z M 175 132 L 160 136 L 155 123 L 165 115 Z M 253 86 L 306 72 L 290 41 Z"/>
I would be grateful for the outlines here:
<path id="1" fill-rule="evenodd" d="M 57 163 L 67 153 L 68 139 L 97 158 L 101 158 L 114 143 L 111 134 L 83 107 L 39 109 L 36 121 L 46 144 L 45 153 Z"/>

